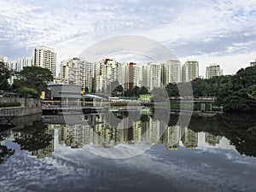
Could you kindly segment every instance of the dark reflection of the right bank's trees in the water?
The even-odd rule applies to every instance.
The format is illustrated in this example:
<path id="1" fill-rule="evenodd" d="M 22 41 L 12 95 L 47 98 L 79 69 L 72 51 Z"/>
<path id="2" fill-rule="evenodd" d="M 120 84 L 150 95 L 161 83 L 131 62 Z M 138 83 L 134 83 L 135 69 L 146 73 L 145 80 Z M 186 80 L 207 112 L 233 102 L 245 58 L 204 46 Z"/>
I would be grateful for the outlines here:
<path id="1" fill-rule="evenodd" d="M 226 137 L 240 154 L 256 157 L 256 118 L 253 114 L 222 114 L 213 118 L 193 116 L 189 129 Z"/>

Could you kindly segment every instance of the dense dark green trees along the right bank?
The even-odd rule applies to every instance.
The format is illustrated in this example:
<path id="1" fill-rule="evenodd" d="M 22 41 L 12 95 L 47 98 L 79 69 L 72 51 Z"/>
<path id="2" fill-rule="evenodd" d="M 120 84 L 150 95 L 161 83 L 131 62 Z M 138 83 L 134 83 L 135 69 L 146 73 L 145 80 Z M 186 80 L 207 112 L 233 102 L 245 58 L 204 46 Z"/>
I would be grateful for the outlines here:
<path id="1" fill-rule="evenodd" d="M 256 66 L 241 68 L 235 75 L 212 79 L 194 79 L 191 82 L 193 95 L 216 96 L 217 104 L 226 111 L 249 112 L 256 110 Z M 179 96 L 187 84 L 168 84 L 169 96 Z"/>

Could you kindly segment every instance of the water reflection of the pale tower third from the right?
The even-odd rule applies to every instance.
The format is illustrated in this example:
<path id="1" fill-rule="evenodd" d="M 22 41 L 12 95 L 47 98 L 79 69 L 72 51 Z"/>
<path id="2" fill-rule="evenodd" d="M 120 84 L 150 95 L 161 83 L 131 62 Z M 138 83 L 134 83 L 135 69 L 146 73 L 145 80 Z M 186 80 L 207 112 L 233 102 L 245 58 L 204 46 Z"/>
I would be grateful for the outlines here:
<path id="1" fill-rule="evenodd" d="M 179 141 L 181 137 L 180 126 L 167 126 L 166 132 L 163 135 L 163 144 L 166 145 L 166 148 L 169 150 L 177 150 L 179 147 Z"/>

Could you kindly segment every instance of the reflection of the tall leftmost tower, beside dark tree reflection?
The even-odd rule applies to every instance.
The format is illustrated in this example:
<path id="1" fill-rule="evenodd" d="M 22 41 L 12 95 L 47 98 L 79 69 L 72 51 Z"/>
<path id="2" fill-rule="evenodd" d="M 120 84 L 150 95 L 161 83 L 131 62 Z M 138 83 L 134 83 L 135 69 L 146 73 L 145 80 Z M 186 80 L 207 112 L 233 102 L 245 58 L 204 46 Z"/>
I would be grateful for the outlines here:
<path id="1" fill-rule="evenodd" d="M 45 130 L 45 133 L 52 136 L 51 140 L 49 141 L 49 145 L 46 148 L 40 148 L 38 150 L 32 151 L 32 155 L 37 156 L 38 159 L 41 159 L 44 157 L 50 157 L 54 151 L 55 126 L 48 125 L 47 129 Z"/>

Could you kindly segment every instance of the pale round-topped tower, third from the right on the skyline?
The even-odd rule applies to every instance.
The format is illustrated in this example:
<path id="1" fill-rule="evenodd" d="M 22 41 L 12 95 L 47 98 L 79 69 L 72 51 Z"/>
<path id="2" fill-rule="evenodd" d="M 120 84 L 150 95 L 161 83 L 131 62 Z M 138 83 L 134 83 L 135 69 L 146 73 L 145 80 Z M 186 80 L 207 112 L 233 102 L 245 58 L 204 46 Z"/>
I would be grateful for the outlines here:
<path id="1" fill-rule="evenodd" d="M 166 61 L 166 84 L 181 83 L 181 65 L 177 59 Z"/>

